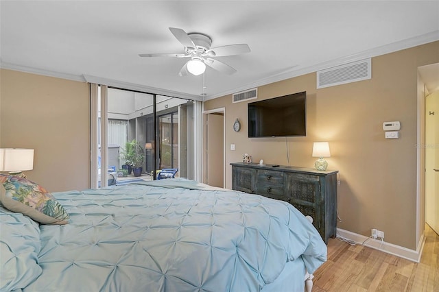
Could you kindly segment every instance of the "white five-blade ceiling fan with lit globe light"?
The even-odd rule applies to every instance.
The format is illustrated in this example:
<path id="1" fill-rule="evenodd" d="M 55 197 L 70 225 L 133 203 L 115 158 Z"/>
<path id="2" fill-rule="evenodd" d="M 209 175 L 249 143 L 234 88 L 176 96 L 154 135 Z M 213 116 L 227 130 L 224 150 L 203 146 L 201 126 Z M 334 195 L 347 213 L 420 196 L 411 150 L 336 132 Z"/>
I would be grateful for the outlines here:
<path id="1" fill-rule="evenodd" d="M 205 34 L 187 34 L 183 29 L 174 27 L 169 27 L 169 30 L 185 46 L 185 53 L 141 53 L 139 56 L 190 58 L 191 60 L 187 61 L 182 66 L 180 73 L 178 73 L 180 76 L 187 75 L 188 73 L 200 75 L 206 70 L 206 65 L 219 72 L 233 74 L 236 72 L 234 68 L 214 58 L 250 52 L 250 47 L 247 44 L 211 48 L 212 39 Z"/>

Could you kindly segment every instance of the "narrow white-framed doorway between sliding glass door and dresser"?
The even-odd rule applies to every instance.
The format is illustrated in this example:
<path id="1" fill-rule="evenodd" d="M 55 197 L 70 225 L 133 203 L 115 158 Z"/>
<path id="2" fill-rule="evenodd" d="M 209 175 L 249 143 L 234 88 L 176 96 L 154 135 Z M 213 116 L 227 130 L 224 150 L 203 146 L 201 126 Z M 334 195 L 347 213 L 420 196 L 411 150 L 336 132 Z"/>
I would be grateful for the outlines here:
<path id="1" fill-rule="evenodd" d="M 224 108 L 203 112 L 203 182 L 220 188 L 225 185 L 224 112 Z"/>

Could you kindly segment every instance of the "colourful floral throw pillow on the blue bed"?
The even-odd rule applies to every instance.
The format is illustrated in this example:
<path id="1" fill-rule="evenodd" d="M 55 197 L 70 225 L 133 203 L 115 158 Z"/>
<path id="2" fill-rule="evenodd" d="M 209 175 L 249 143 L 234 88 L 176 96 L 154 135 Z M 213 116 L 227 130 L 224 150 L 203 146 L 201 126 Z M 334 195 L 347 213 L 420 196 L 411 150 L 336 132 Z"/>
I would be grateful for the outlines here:
<path id="1" fill-rule="evenodd" d="M 35 182 L 15 175 L 0 174 L 5 192 L 0 201 L 5 208 L 21 212 L 42 224 L 67 224 L 70 217 L 53 195 Z"/>

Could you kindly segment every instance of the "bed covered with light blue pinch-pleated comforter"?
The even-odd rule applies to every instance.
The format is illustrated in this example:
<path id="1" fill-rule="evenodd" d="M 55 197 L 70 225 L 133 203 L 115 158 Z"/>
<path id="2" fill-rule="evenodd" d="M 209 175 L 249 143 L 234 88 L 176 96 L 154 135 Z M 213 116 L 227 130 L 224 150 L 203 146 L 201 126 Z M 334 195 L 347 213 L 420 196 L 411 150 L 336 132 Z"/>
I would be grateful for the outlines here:
<path id="1" fill-rule="evenodd" d="M 327 258 L 296 208 L 259 195 L 180 178 L 48 195 L 64 222 L 0 206 L 0 291 L 304 291 Z"/>

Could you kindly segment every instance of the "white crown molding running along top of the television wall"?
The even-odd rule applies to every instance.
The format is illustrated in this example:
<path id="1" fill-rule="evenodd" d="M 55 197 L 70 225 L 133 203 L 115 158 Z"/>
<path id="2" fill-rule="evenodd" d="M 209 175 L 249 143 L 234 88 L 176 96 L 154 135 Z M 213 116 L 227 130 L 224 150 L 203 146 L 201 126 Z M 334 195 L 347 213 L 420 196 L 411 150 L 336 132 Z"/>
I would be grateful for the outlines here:
<path id="1" fill-rule="evenodd" d="M 279 82 L 282 80 L 287 80 L 292 77 L 298 77 L 300 75 L 305 75 L 308 73 L 317 72 L 324 69 L 329 69 L 331 67 L 340 66 L 342 64 L 355 62 L 359 60 L 363 60 L 366 58 L 372 58 L 376 56 L 385 55 L 386 53 L 393 53 L 395 51 L 401 51 L 403 49 L 409 49 L 411 47 L 416 47 L 418 45 L 424 45 L 429 42 L 434 42 L 439 40 L 439 29 L 435 30 L 434 32 L 429 32 L 427 34 L 423 34 L 420 36 L 416 36 L 414 38 L 407 38 L 405 40 L 400 40 L 398 42 L 392 42 L 388 45 L 383 45 L 381 47 L 376 47 L 374 49 L 370 49 L 367 51 L 362 51 L 360 53 L 355 53 L 351 56 L 345 56 L 342 58 L 337 58 L 335 60 L 330 60 L 328 62 L 322 62 L 319 64 L 313 64 L 311 66 L 307 67 L 297 67 L 294 66 L 292 69 L 287 69 L 281 73 L 278 73 L 276 75 L 272 75 L 267 78 L 263 78 L 261 80 L 257 80 L 255 82 L 251 82 L 248 84 L 245 84 L 243 86 L 239 86 L 237 88 L 234 88 L 233 90 L 227 90 L 222 93 L 217 93 L 215 95 L 209 95 L 204 98 L 204 101 L 207 101 L 209 99 L 215 99 L 217 97 L 223 97 L 224 95 L 230 95 L 233 93 L 238 93 L 243 90 L 248 90 L 248 88 L 254 88 L 258 86 L 263 86 L 266 84 L 271 84 L 274 82 Z"/>

